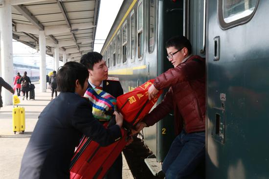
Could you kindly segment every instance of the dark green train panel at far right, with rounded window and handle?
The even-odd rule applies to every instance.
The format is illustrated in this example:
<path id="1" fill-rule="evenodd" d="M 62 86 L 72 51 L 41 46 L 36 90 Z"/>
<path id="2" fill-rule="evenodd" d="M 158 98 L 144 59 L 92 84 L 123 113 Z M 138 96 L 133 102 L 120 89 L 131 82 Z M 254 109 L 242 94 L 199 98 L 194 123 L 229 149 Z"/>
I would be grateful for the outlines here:
<path id="1" fill-rule="evenodd" d="M 268 9 L 207 1 L 206 179 L 269 178 Z"/>

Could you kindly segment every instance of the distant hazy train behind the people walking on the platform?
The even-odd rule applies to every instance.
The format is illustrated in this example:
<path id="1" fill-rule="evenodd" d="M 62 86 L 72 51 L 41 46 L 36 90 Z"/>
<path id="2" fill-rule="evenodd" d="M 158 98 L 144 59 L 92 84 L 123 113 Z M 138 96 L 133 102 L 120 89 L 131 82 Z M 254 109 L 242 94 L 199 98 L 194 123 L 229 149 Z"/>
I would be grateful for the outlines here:
<path id="1" fill-rule="evenodd" d="M 32 82 L 39 80 L 39 67 L 13 64 L 13 77 L 15 77 L 18 72 L 23 76 L 24 71 L 27 71 L 27 76 L 29 76 Z M 53 69 L 46 68 L 46 74 L 50 71 L 53 71 Z"/>

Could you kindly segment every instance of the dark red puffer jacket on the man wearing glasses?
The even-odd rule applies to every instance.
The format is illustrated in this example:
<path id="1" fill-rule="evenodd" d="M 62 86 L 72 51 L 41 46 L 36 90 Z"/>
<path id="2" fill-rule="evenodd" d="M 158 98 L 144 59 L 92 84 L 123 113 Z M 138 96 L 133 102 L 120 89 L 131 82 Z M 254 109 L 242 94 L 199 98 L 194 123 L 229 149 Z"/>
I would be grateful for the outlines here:
<path id="1" fill-rule="evenodd" d="M 176 134 L 181 132 L 183 124 L 186 133 L 205 130 L 205 59 L 191 56 L 178 67 L 159 75 L 154 86 L 158 90 L 170 89 L 163 101 L 144 117 L 147 126 L 174 110 Z"/>

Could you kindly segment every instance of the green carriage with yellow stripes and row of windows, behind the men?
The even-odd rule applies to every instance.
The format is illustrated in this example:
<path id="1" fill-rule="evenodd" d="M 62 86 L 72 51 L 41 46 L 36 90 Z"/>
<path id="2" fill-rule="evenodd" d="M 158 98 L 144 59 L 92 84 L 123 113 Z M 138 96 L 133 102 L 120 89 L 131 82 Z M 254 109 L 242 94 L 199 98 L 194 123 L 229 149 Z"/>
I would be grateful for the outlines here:
<path id="1" fill-rule="evenodd" d="M 172 36 L 186 33 L 183 27 L 188 29 L 189 24 L 184 26 L 183 22 L 186 13 L 183 5 L 182 0 L 123 1 L 101 53 L 109 67 L 109 75 L 120 78 L 125 92 L 173 67 L 166 58 L 165 42 Z M 193 6 L 198 5 L 201 4 L 195 2 Z M 203 16 L 203 12 L 200 15 Z M 203 29 L 203 24 L 200 28 Z M 191 37 L 194 34 L 203 37 L 203 31 L 194 30 Z M 199 41 L 201 45 L 202 41 Z M 201 45 L 196 45 L 201 49 L 194 51 L 202 50 L 203 55 Z M 175 138 L 173 112 L 153 127 L 145 128 L 142 135 L 157 157 L 156 161 L 162 161 Z"/>

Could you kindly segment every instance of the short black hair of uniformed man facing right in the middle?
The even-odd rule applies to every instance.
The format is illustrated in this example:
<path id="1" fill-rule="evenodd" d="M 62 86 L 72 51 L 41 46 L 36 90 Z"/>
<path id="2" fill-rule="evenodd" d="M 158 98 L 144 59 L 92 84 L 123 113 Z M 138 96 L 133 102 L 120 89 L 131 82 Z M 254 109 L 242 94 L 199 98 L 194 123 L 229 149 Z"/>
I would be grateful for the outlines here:
<path id="1" fill-rule="evenodd" d="M 87 67 L 90 70 L 93 70 L 94 64 L 100 62 L 103 59 L 103 55 L 101 55 L 98 52 L 89 52 L 87 54 L 84 54 L 81 59 L 80 63 Z"/>

